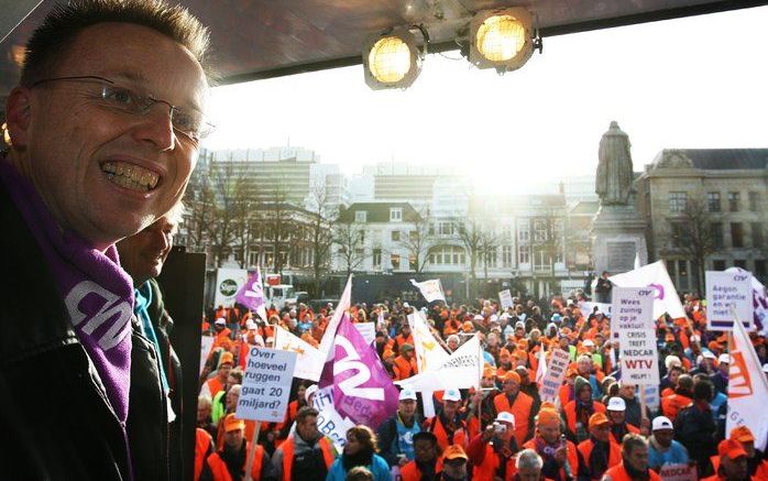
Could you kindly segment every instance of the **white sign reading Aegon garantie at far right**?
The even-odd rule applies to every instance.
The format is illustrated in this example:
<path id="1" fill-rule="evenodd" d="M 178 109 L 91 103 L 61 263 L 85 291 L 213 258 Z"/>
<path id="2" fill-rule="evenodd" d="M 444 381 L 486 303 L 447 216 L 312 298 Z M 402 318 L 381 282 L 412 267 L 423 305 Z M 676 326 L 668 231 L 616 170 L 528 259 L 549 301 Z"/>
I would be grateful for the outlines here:
<path id="1" fill-rule="evenodd" d="M 753 330 L 753 293 L 749 272 L 706 271 L 706 328 L 733 330 L 733 307 L 744 328 Z"/>

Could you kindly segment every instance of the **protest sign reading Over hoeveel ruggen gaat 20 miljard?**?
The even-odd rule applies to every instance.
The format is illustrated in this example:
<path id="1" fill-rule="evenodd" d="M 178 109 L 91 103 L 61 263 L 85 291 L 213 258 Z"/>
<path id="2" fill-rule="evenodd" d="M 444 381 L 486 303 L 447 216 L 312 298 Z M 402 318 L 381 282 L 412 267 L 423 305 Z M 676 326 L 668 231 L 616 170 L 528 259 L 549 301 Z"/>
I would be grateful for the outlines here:
<path id="1" fill-rule="evenodd" d="M 282 423 L 288 407 L 295 364 L 296 352 L 252 347 L 243 374 L 237 417 Z"/>

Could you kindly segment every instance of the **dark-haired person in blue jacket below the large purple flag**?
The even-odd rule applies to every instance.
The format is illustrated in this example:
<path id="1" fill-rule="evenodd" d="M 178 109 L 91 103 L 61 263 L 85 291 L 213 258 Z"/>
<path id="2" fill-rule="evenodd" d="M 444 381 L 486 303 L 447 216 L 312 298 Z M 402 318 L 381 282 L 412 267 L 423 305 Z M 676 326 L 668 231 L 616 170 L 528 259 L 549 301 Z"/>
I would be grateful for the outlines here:
<path id="1" fill-rule="evenodd" d="M 350 428 L 344 451 L 331 464 L 326 481 L 344 481 L 349 470 L 361 466 L 371 471 L 374 481 L 392 481 L 390 466 L 376 455 L 377 449 L 376 435 L 370 427 L 358 425 Z"/>

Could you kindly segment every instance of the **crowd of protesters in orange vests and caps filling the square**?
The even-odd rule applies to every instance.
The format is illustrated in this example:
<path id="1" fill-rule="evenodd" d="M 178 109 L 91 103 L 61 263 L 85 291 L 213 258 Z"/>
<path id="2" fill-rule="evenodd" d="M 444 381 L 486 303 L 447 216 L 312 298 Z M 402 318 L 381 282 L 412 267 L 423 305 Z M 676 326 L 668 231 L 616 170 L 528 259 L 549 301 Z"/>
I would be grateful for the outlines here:
<path id="1" fill-rule="evenodd" d="M 514 298 L 506 309 L 489 299 L 423 307 L 447 352 L 480 336 L 481 389 L 435 393 L 437 414 L 427 418 L 421 394 L 404 389 L 397 414 L 380 426 L 350 429 L 337 456 L 316 426 L 317 386 L 294 380 L 284 422 L 261 426 L 252 478 L 388 480 L 397 467 L 405 481 L 621 481 L 660 479 L 662 467 L 678 464 L 695 467 L 699 479 L 768 480 L 766 455 L 756 449 L 749 428 L 726 433 L 726 337 L 706 330 L 699 298 L 684 296 L 685 317 L 657 319 L 658 407 L 645 406 L 638 386 L 621 381 L 610 319 L 597 308 L 583 313 L 584 300 L 577 292 L 568 298 Z M 415 309 L 395 299 L 349 310 L 353 323 L 375 323 L 375 349 L 393 380 L 418 373 L 407 321 Z M 273 347 L 275 326 L 318 346 L 333 306 L 272 307 L 266 323 L 238 307 L 211 314 L 212 323 L 202 325 L 215 341 L 201 376 L 196 472 L 200 479 L 230 479 L 216 474 L 223 459 L 238 479 L 255 429 L 255 422 L 237 420 L 233 414 L 249 346 Z M 765 338 L 750 336 L 766 363 Z M 564 350 L 571 363 L 558 398 L 549 403 L 539 396 L 536 373 L 539 351 L 549 356 L 555 348 Z"/>

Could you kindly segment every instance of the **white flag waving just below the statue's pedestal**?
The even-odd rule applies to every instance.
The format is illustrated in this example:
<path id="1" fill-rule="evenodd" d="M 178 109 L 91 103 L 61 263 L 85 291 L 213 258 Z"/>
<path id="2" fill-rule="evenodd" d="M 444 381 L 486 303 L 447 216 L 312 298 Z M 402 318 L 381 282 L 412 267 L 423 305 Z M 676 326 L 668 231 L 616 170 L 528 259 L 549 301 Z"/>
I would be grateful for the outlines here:
<path id="1" fill-rule="evenodd" d="M 678 292 L 669 278 L 667 267 L 663 262 L 656 261 L 652 264 L 644 265 L 640 269 L 616 274 L 608 277 L 608 281 L 619 287 L 654 287 L 654 319 L 658 319 L 665 313 L 672 318 L 685 317 L 685 311 L 680 304 Z"/>

